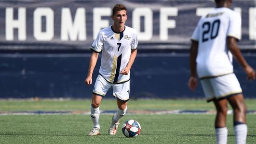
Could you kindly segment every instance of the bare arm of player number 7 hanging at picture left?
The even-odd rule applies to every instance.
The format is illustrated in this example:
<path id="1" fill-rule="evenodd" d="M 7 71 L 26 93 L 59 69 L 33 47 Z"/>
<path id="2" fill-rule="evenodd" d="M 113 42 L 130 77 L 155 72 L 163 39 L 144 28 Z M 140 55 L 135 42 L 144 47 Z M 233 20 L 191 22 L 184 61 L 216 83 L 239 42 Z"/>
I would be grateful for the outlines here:
<path id="1" fill-rule="evenodd" d="M 90 58 L 90 62 L 89 62 L 89 68 L 88 68 L 87 78 L 85 79 L 85 84 L 92 84 L 92 74 L 96 66 L 97 60 L 98 60 L 98 53 L 93 51 Z"/>

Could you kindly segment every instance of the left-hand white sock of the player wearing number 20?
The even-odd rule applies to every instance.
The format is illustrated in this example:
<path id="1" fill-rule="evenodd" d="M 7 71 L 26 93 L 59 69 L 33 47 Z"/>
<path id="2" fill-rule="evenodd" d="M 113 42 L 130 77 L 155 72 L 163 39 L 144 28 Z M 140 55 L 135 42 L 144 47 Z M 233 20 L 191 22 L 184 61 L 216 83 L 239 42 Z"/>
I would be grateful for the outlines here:
<path id="1" fill-rule="evenodd" d="M 227 141 L 228 141 L 227 127 L 215 128 L 215 134 L 216 134 L 217 144 L 227 144 Z"/>

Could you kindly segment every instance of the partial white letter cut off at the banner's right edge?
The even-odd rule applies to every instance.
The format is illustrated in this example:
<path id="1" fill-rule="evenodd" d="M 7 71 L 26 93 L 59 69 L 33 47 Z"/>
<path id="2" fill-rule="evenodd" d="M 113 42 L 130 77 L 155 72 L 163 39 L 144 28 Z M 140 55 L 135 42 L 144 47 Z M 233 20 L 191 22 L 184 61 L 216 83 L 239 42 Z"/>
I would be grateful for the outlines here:
<path id="1" fill-rule="evenodd" d="M 256 8 L 249 8 L 249 39 L 256 40 Z"/>

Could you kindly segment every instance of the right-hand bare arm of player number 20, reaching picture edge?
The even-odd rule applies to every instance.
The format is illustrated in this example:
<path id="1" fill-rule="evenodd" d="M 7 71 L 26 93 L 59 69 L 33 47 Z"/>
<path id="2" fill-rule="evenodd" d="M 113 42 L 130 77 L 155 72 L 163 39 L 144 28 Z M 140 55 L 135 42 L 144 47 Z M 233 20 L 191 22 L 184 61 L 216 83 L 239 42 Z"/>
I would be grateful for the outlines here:
<path id="1" fill-rule="evenodd" d="M 247 79 L 255 80 L 255 71 L 254 69 L 246 62 L 240 49 L 236 44 L 236 38 L 232 36 L 227 37 L 227 47 L 232 52 L 234 58 L 242 65 L 244 72 L 247 74 Z"/>

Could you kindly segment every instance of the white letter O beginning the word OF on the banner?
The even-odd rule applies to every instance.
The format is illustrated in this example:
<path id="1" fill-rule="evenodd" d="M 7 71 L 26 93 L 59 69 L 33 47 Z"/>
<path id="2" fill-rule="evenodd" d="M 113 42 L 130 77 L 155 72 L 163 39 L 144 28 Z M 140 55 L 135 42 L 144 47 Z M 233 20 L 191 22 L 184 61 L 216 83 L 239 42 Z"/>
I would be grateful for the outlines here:
<path id="1" fill-rule="evenodd" d="M 141 31 L 140 18 L 144 17 L 144 32 Z M 138 40 L 150 40 L 153 36 L 153 12 L 150 8 L 135 8 L 133 11 L 133 28 Z"/>

